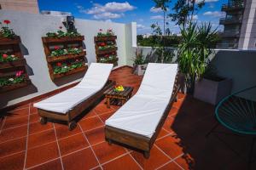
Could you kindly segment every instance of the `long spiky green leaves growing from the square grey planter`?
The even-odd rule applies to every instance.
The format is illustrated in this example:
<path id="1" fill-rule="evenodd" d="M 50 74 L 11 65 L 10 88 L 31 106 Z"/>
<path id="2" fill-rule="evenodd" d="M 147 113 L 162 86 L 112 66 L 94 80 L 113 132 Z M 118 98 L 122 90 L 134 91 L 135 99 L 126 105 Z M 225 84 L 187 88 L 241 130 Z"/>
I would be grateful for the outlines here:
<path id="1" fill-rule="evenodd" d="M 209 56 L 214 53 L 212 44 L 218 41 L 217 30 L 212 30 L 211 23 L 197 26 L 190 23 L 181 28 L 183 41 L 178 46 L 177 62 L 179 69 L 186 75 L 188 87 L 193 88 L 195 79 L 205 74 L 209 65 Z"/>

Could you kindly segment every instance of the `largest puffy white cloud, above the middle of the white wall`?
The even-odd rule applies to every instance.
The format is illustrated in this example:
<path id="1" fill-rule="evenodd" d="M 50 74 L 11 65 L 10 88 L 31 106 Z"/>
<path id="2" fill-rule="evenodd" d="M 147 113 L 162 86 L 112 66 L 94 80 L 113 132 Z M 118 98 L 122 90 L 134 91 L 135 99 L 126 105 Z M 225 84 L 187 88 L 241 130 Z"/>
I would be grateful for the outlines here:
<path id="1" fill-rule="evenodd" d="M 130 3 L 106 3 L 104 5 L 99 3 L 94 3 L 92 8 L 84 9 L 82 6 L 77 6 L 80 13 L 93 14 L 93 18 L 96 20 L 108 20 L 117 19 L 124 16 L 126 11 L 131 11 L 136 7 L 132 6 Z"/>

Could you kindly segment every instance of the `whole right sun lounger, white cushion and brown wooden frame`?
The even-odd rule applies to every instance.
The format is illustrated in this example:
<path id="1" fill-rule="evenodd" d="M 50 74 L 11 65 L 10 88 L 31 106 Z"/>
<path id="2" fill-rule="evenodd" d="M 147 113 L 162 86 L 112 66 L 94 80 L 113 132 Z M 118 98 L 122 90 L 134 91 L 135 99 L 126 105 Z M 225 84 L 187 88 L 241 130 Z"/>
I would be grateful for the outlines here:
<path id="1" fill-rule="evenodd" d="M 176 77 L 177 64 L 148 64 L 137 94 L 106 121 L 107 141 L 143 150 L 148 157 L 176 99 Z"/>

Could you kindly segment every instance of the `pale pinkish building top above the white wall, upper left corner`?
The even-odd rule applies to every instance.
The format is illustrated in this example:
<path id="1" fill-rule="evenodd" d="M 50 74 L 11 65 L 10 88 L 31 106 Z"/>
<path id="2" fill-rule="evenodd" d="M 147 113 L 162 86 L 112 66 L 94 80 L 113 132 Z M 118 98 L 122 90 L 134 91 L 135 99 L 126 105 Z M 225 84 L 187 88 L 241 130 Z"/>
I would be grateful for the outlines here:
<path id="1" fill-rule="evenodd" d="M 39 14 L 38 0 L 0 0 L 1 8 Z"/>

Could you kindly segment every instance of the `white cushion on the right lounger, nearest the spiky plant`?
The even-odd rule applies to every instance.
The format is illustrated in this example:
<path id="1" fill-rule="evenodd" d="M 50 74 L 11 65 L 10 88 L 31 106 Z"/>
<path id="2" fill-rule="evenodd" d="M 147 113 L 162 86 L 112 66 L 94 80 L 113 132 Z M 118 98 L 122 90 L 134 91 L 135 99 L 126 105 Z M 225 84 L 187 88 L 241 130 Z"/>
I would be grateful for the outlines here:
<path id="1" fill-rule="evenodd" d="M 151 138 L 172 96 L 176 64 L 148 64 L 140 88 L 106 125 Z"/>

